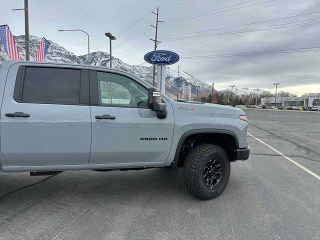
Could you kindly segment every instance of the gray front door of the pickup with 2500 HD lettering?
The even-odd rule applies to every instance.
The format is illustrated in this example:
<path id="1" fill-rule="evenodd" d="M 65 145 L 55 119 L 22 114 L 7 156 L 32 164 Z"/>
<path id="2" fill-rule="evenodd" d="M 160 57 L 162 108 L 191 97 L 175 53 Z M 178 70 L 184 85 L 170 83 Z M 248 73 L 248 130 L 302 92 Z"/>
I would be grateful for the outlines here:
<path id="1" fill-rule="evenodd" d="M 90 164 L 164 164 L 173 134 L 173 110 L 167 100 L 167 117 L 158 119 L 147 108 L 148 90 L 143 82 L 122 73 L 93 70 L 90 97 Z"/>

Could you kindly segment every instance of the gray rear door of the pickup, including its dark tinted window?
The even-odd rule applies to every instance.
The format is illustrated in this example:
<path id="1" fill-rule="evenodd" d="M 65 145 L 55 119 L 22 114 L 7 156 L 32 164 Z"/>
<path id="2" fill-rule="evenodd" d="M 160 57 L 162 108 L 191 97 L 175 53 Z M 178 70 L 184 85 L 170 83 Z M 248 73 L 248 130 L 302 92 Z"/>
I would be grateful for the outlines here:
<path id="1" fill-rule="evenodd" d="M 88 67 L 16 63 L 0 114 L 1 153 L 17 166 L 87 164 Z"/>

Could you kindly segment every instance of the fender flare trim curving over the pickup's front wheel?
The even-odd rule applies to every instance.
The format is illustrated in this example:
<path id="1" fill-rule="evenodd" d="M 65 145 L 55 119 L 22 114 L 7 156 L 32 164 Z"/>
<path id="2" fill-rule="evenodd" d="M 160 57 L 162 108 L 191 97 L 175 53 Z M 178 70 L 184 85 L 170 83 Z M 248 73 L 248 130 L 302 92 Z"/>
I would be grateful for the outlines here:
<path id="1" fill-rule="evenodd" d="M 222 134 L 228 134 L 228 135 L 231 135 L 234 138 L 236 147 L 239 147 L 238 137 L 233 131 L 224 130 L 224 129 L 215 129 L 215 128 L 201 128 L 201 129 L 189 130 L 189 131 L 184 132 L 182 134 L 182 136 L 180 137 L 179 141 L 178 141 L 178 144 L 176 146 L 175 153 L 174 153 L 174 158 L 173 158 L 173 161 L 171 162 L 171 167 L 174 167 L 174 168 L 177 167 L 178 160 L 179 160 L 180 149 L 182 147 L 182 144 L 183 144 L 184 140 L 188 136 L 193 135 L 193 134 L 197 134 L 197 133 L 222 133 Z"/>

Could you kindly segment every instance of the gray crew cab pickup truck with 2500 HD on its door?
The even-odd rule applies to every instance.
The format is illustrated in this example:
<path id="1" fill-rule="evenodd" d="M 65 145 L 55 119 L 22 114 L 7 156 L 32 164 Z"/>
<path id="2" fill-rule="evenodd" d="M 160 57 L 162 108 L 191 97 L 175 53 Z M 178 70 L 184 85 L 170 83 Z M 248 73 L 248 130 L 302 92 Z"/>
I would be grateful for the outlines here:
<path id="1" fill-rule="evenodd" d="M 219 195 L 249 156 L 245 113 L 177 102 L 123 70 L 3 61 L 0 171 L 183 167 L 188 190 Z"/>

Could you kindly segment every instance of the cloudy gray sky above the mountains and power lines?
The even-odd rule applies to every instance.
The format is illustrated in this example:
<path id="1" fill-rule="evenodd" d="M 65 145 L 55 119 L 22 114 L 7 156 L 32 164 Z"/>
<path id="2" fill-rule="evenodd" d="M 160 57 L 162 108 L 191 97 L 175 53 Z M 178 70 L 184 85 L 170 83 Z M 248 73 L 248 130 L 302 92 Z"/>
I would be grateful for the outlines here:
<path id="1" fill-rule="evenodd" d="M 14 35 L 24 34 L 23 11 L 11 10 L 23 7 L 23 0 L 1 1 L 0 24 L 8 24 Z M 164 21 L 158 28 L 158 49 L 173 50 L 181 57 L 171 67 L 179 65 L 209 84 L 214 82 L 217 89 L 232 84 L 273 90 L 273 83 L 279 82 L 280 90 L 296 94 L 320 90 L 320 51 L 316 51 L 320 48 L 309 48 L 320 47 L 319 0 L 29 0 L 30 34 L 45 36 L 80 55 L 87 52 L 86 35 L 58 29 L 87 31 L 91 51 L 109 50 L 108 42 L 101 45 L 109 31 L 116 36 L 113 46 L 121 43 L 112 55 L 140 64 L 144 53 L 152 50 L 147 39 L 154 37 L 154 29 L 148 25 L 155 23 L 150 12 L 157 6 L 159 20 Z M 309 49 L 264 54 L 301 48 Z M 216 56 L 248 52 L 257 53 Z M 183 58 L 207 55 L 214 57 Z"/>

